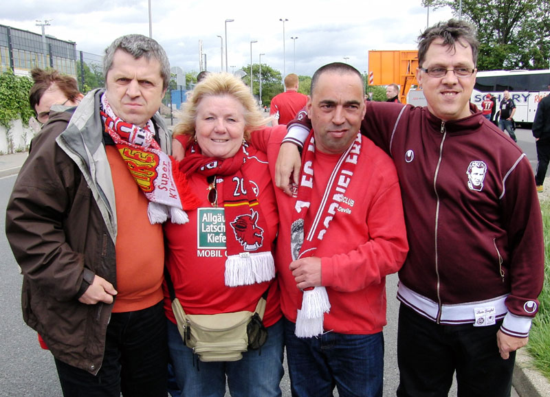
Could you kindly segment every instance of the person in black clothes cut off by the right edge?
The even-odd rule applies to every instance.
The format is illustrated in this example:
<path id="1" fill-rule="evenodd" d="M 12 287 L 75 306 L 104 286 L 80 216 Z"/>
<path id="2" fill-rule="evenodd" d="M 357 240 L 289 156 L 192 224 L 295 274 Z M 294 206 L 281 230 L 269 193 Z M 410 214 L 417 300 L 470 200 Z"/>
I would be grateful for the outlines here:
<path id="1" fill-rule="evenodd" d="M 550 90 L 550 85 L 548 86 Z M 537 171 L 535 183 L 537 192 L 542 192 L 542 183 L 550 161 L 550 95 L 538 102 L 537 113 L 533 121 L 533 137 L 537 146 Z"/>

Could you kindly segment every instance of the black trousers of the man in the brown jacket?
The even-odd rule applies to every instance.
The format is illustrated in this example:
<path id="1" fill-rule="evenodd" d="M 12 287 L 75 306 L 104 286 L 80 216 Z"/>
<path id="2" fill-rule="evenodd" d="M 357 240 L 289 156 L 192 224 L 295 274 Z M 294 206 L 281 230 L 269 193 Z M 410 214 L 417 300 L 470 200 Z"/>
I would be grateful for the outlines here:
<path id="1" fill-rule="evenodd" d="M 166 397 L 168 345 L 162 301 L 113 313 L 105 354 L 96 376 L 56 359 L 65 397 Z"/>

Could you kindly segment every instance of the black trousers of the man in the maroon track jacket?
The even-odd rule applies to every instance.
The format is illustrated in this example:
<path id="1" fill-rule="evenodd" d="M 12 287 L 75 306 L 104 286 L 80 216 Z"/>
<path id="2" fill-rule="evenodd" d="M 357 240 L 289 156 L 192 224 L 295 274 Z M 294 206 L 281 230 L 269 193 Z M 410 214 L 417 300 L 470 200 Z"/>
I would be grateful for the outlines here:
<path id="1" fill-rule="evenodd" d="M 398 397 L 509 397 L 516 352 L 503 360 L 494 326 L 443 326 L 401 304 L 397 330 Z"/>

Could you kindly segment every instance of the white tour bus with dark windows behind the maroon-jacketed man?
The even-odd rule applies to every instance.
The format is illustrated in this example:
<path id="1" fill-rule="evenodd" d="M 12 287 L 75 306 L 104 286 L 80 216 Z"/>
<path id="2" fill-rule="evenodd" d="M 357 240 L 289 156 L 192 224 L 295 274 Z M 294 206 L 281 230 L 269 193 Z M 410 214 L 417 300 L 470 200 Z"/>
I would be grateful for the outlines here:
<path id="1" fill-rule="evenodd" d="M 472 103 L 481 109 L 481 102 L 485 95 L 490 93 L 496 97 L 496 111 L 500 101 L 503 100 L 505 90 L 510 93 L 510 98 L 516 104 L 514 121 L 523 124 L 531 124 L 535 119 L 538 102 L 550 91 L 550 69 L 548 70 L 492 70 L 478 71 L 476 84 L 472 92 Z M 415 106 L 426 106 L 421 90 L 410 90 L 407 103 Z"/>

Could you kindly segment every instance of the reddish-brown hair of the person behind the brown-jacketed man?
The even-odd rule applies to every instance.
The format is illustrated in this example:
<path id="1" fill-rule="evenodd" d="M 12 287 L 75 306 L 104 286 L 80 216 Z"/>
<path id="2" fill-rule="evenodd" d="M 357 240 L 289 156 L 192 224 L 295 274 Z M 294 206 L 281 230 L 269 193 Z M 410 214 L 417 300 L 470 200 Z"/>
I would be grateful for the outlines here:
<path id="1" fill-rule="evenodd" d="M 45 91 L 56 84 L 58 89 L 65 94 L 68 100 L 75 102 L 80 95 L 78 91 L 78 82 L 72 76 L 61 74 L 55 69 L 40 69 L 35 67 L 30 71 L 30 76 L 34 80 L 34 85 L 29 91 L 29 103 L 31 109 L 36 113 L 36 106 L 40 103 Z"/>

